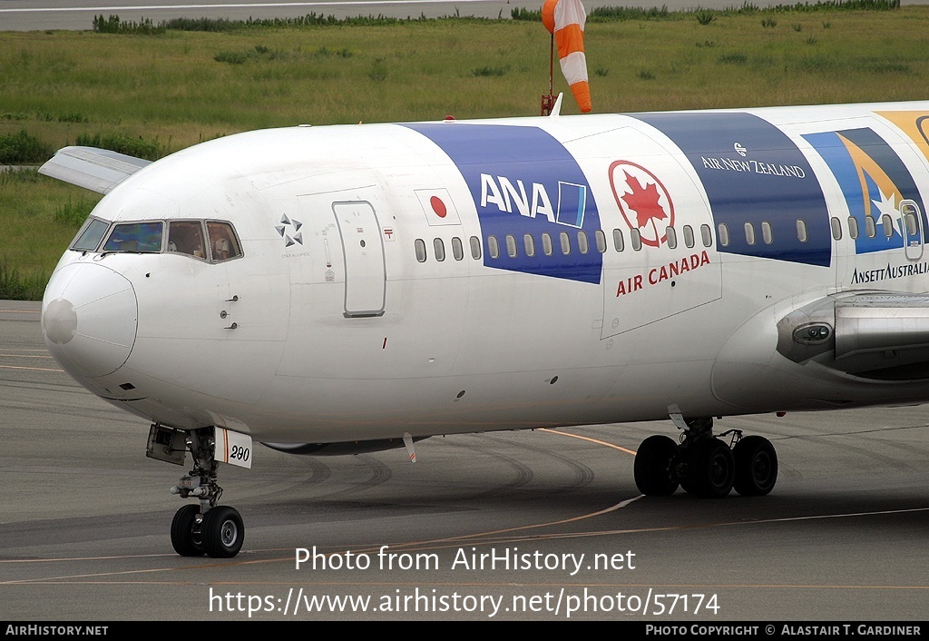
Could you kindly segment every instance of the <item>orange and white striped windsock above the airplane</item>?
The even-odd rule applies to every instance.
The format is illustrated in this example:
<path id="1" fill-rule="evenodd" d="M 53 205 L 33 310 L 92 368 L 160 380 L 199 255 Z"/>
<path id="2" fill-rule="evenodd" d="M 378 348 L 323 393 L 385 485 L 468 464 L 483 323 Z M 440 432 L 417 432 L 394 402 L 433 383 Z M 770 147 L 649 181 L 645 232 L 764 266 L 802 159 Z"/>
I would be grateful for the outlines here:
<path id="1" fill-rule="evenodd" d="M 581 0 L 545 0 L 542 22 L 555 34 L 561 73 L 571 87 L 574 100 L 586 114 L 591 110 L 590 85 L 587 82 L 587 58 L 583 52 L 583 28 L 587 13 Z"/>

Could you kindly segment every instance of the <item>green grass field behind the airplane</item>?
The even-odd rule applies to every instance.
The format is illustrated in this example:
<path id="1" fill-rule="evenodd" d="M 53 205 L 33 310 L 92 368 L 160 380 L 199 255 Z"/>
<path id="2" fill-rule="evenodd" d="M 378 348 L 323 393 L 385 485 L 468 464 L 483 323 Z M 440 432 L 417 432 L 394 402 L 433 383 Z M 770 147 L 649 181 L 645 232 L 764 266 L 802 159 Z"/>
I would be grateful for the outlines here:
<path id="1" fill-rule="evenodd" d="M 927 97 L 929 7 L 698 17 L 589 22 L 595 113 Z M 23 136 L 155 157 L 259 127 L 538 114 L 548 47 L 525 20 L 0 33 L 0 157 Z M 41 295 L 96 200 L 0 176 L 0 298 Z"/>

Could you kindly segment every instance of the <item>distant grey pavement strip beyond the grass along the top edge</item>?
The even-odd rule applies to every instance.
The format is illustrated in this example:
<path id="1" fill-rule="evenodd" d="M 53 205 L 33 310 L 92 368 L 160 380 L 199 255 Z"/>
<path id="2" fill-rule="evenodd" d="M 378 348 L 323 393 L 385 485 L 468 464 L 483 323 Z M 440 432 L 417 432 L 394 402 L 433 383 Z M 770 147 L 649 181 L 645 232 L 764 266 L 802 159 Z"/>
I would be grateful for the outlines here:
<path id="1" fill-rule="evenodd" d="M 759 6 L 787 4 L 789 0 L 754 0 Z M 904 0 L 905 5 L 925 5 L 929 0 Z M 738 7 L 738 0 L 588 0 L 593 7 L 656 7 L 672 10 Z M 454 15 L 508 18 L 514 7 L 537 8 L 542 0 L 347 0 L 345 2 L 276 2 L 274 0 L 196 0 L 158 3 L 152 0 L 0 0 L 0 31 L 89 30 L 98 14 L 116 14 L 123 20 L 148 18 L 295 18 L 307 13 L 338 18 L 383 14 L 393 18 L 427 18 Z"/>

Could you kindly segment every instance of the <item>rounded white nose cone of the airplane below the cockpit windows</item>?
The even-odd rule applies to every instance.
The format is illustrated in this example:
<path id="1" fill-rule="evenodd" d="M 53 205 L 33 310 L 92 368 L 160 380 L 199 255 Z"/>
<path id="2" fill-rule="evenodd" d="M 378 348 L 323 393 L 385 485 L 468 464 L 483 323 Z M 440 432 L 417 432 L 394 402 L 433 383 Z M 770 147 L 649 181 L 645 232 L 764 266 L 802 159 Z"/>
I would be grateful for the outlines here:
<path id="1" fill-rule="evenodd" d="M 74 376 L 106 376 L 121 367 L 136 342 L 136 290 L 124 276 L 92 262 L 52 275 L 42 303 L 48 351 Z"/>

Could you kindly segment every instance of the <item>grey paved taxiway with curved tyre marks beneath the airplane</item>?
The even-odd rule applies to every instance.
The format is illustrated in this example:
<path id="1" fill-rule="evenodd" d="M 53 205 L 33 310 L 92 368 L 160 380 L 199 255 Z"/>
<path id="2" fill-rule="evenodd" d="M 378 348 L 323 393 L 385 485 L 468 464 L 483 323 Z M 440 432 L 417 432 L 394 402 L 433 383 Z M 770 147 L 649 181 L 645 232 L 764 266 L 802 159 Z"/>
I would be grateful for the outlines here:
<path id="1" fill-rule="evenodd" d="M 921 620 L 927 417 L 721 421 L 769 437 L 780 477 L 719 501 L 639 497 L 632 450 L 670 421 L 435 437 L 416 463 L 256 446 L 220 471 L 242 554 L 181 558 L 184 469 L 59 370 L 37 303 L 0 301 L 0 620 Z"/>

